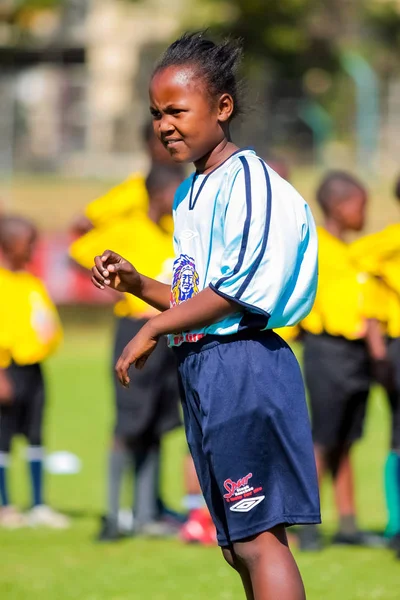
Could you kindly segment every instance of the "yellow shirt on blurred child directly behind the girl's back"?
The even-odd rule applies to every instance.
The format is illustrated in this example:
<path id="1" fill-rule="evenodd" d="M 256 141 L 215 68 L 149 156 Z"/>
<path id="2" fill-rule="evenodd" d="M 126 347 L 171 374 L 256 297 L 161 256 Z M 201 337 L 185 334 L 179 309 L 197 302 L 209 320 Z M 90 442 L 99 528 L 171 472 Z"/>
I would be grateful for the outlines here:
<path id="1" fill-rule="evenodd" d="M 366 333 L 366 319 L 375 316 L 374 282 L 353 262 L 347 244 L 322 227 L 318 227 L 318 240 L 317 296 L 301 326 L 315 334 L 361 339 Z"/>

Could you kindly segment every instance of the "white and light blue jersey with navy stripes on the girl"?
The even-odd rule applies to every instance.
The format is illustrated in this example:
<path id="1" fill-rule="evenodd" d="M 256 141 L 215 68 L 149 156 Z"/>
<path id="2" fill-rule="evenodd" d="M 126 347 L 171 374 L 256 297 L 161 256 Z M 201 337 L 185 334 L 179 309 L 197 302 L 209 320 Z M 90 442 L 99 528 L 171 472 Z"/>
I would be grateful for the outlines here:
<path id="1" fill-rule="evenodd" d="M 178 188 L 173 208 L 171 305 L 211 287 L 238 311 L 195 331 L 170 335 L 171 346 L 207 334 L 295 325 L 311 310 L 317 287 L 317 234 L 296 190 L 251 149 Z"/>

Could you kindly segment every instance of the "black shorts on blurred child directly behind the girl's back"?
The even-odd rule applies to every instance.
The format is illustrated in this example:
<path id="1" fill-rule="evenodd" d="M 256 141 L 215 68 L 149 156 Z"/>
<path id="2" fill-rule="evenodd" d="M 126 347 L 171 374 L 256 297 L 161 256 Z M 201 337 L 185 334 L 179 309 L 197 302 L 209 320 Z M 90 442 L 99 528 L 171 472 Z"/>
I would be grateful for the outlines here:
<path id="1" fill-rule="evenodd" d="M 366 344 L 306 333 L 304 375 L 314 443 L 333 449 L 359 439 L 371 384 Z"/>

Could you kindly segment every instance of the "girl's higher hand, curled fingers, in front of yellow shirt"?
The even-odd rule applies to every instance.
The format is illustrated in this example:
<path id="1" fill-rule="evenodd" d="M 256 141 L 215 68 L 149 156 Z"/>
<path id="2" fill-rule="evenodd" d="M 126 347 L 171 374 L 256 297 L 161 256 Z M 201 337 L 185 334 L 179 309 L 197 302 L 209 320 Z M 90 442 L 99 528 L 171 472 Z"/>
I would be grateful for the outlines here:
<path id="1" fill-rule="evenodd" d="M 94 259 L 92 283 L 100 290 L 109 287 L 118 292 L 135 294 L 140 290 L 140 273 L 130 262 L 111 250 Z"/>

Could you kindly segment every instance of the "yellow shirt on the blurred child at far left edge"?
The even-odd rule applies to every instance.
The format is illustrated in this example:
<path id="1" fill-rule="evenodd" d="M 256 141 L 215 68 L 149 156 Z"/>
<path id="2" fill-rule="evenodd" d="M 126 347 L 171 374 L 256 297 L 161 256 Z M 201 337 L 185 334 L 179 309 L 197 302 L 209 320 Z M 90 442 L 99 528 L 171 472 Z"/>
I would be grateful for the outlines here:
<path id="1" fill-rule="evenodd" d="M 57 310 L 43 283 L 26 271 L 0 268 L 0 367 L 41 362 L 61 342 Z"/>

